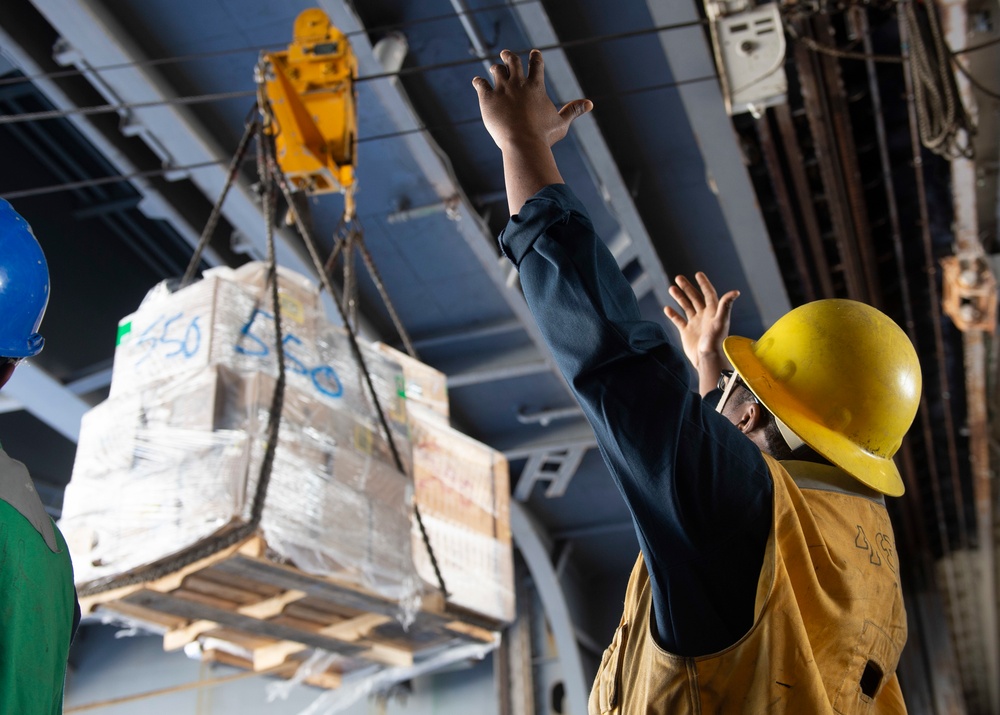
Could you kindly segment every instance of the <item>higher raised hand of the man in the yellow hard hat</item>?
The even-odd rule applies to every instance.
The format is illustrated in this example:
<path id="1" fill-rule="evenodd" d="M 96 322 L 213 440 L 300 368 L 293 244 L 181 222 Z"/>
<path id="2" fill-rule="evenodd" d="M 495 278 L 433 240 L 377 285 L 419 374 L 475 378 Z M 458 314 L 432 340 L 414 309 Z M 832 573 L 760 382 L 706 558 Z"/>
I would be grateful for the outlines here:
<path id="1" fill-rule="evenodd" d="M 574 119 L 593 108 L 589 99 L 577 99 L 556 109 L 545 92 L 545 63 L 538 50 L 528 56 L 527 74 L 521 58 L 510 50 L 501 52 L 500 59 L 502 64 L 490 67 L 495 86 L 482 77 L 473 78 L 472 84 L 486 130 L 502 151 L 551 147 L 566 136 Z"/>

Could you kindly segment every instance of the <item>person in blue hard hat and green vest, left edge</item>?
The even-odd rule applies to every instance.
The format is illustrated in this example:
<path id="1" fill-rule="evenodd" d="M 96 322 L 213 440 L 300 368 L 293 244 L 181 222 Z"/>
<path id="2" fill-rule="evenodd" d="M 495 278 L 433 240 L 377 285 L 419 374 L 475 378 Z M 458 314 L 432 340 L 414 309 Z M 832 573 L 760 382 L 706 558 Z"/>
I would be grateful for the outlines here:
<path id="1" fill-rule="evenodd" d="M 49 269 L 31 227 L 0 199 L 0 388 L 37 355 Z M 0 447 L 0 713 L 61 713 L 80 620 L 73 566 L 28 470 Z"/>

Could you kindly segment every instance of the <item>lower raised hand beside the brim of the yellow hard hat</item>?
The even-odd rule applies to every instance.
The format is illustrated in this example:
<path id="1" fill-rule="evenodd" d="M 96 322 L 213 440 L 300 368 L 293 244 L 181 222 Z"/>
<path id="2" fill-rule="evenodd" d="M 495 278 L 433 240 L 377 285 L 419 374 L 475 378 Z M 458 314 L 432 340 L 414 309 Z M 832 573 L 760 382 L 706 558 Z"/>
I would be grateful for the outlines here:
<path id="1" fill-rule="evenodd" d="M 724 369 L 729 361 L 722 351 L 722 341 L 729 335 L 733 302 L 740 292 L 731 290 L 720 298 L 704 273 L 695 273 L 695 280 L 697 286 L 684 276 L 677 276 L 677 285 L 670 286 L 670 297 L 677 301 L 684 315 L 669 305 L 663 307 L 663 312 L 677 326 L 684 354 L 699 373 L 704 362 L 711 363 L 713 370 L 719 365 Z M 714 379 L 718 380 L 717 373 Z"/>

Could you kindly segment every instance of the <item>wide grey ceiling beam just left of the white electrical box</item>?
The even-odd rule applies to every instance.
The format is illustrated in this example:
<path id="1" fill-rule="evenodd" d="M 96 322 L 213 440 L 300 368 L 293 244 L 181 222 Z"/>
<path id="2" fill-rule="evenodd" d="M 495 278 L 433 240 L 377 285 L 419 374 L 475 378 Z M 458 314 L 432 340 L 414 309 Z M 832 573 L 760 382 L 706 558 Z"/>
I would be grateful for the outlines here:
<path id="1" fill-rule="evenodd" d="M 700 20 L 695 0 L 646 0 L 646 5 L 657 27 Z M 712 50 L 700 24 L 673 29 L 669 33 L 660 32 L 659 39 L 674 77 L 704 77 L 716 73 Z M 683 84 L 676 91 L 697 138 L 750 294 L 766 328 L 787 313 L 791 304 L 732 119 L 726 114 L 722 91 L 716 82 Z"/>

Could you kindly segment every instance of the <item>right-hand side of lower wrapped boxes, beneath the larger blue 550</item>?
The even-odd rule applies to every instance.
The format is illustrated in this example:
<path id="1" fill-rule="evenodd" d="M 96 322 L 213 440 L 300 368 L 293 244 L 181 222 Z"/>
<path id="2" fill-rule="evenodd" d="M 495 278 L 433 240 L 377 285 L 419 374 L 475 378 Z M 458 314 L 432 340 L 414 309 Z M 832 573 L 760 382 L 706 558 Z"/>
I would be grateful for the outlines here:
<path id="1" fill-rule="evenodd" d="M 247 505 L 264 456 L 274 380 L 258 375 L 254 384 L 246 429 L 259 438 Z M 406 537 L 412 488 L 392 466 L 385 440 L 374 423 L 297 390 L 286 388 L 284 402 L 261 520 L 268 546 L 305 571 L 350 576 L 394 599 L 409 598 L 415 587 Z"/>

